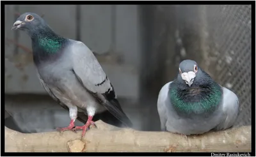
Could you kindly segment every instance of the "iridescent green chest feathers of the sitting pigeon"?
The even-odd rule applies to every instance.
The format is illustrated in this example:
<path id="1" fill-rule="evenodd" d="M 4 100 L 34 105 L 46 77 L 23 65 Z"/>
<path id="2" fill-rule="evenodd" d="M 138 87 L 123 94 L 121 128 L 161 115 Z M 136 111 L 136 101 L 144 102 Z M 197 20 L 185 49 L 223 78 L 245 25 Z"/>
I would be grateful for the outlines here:
<path id="1" fill-rule="evenodd" d="M 220 87 L 172 87 L 169 94 L 175 110 L 184 114 L 214 112 L 222 99 Z"/>

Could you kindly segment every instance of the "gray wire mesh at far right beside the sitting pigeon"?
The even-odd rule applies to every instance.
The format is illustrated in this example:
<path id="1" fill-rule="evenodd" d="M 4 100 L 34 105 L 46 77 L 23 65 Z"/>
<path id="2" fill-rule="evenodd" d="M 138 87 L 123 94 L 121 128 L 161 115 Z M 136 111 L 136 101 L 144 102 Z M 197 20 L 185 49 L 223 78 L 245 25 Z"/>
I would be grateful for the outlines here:
<path id="1" fill-rule="evenodd" d="M 239 97 L 237 125 L 251 124 L 252 117 L 252 29 L 251 6 L 204 6 L 206 10 L 209 64 L 214 79 Z M 213 68 L 215 65 L 216 68 Z"/>

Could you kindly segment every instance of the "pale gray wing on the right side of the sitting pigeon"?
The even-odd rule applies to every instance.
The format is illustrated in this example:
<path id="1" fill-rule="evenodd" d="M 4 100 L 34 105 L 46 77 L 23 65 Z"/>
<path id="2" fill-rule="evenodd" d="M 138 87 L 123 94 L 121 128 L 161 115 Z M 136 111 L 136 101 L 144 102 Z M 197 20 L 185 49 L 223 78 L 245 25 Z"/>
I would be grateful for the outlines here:
<path id="1" fill-rule="evenodd" d="M 229 89 L 222 87 L 223 89 L 223 121 L 221 121 L 214 130 L 225 130 L 230 128 L 236 123 L 237 116 L 239 114 L 239 99 L 237 95 Z"/>

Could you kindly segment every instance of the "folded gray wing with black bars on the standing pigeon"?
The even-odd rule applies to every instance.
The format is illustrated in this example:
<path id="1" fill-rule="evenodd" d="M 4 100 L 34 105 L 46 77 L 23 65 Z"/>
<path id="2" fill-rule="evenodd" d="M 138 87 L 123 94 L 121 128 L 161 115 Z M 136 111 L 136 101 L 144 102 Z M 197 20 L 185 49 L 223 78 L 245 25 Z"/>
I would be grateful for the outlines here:
<path id="1" fill-rule="evenodd" d="M 81 41 L 72 42 L 73 70 L 79 82 L 117 119 L 132 126 L 116 100 L 116 94 L 106 73 L 92 51 Z"/>

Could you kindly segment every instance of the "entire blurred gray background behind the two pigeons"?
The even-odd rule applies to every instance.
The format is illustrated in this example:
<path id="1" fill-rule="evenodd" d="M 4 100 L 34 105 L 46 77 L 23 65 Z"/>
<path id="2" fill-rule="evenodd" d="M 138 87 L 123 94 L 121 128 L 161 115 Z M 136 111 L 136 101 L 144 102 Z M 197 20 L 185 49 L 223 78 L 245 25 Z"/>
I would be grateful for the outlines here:
<path id="1" fill-rule="evenodd" d="M 19 13 L 35 12 L 61 36 L 95 52 L 134 129 L 159 131 L 157 95 L 195 60 L 240 100 L 237 126 L 251 124 L 250 5 L 7 5 L 5 6 L 5 126 L 23 133 L 70 122 L 41 86 L 31 40 L 11 31 Z M 77 121 L 77 124 L 79 121 Z"/>

